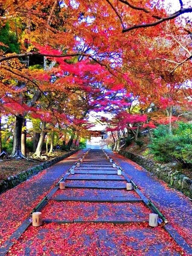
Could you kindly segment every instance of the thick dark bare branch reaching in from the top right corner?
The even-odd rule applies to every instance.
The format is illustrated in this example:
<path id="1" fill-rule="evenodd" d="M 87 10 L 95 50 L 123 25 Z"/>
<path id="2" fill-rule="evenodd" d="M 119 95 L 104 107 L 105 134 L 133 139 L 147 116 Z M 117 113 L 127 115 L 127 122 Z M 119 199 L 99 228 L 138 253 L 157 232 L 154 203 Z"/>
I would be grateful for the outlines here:
<path id="1" fill-rule="evenodd" d="M 162 17 L 160 18 L 159 20 L 155 21 L 155 22 L 151 22 L 151 23 L 145 23 L 145 24 L 138 24 L 138 25 L 134 25 L 134 26 L 131 26 L 127 29 L 123 29 L 122 32 L 125 33 L 125 32 L 128 32 L 128 31 L 131 31 L 133 29 L 139 29 L 139 28 L 147 28 L 147 27 L 151 27 L 151 26 L 156 26 L 166 20 L 173 20 L 175 19 L 176 17 L 182 15 L 183 13 L 188 13 L 188 12 L 192 12 L 192 7 L 191 8 L 186 8 L 186 9 L 180 9 L 179 11 L 173 13 L 172 15 L 169 15 L 167 17 Z"/>

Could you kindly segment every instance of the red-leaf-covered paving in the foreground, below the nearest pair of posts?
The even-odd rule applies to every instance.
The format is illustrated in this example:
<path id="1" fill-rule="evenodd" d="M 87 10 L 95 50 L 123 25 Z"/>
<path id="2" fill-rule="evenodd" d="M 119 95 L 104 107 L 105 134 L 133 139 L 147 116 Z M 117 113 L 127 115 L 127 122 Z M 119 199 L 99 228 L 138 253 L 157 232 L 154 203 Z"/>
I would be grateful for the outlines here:
<path id="1" fill-rule="evenodd" d="M 30 226 L 8 256 L 185 255 L 162 227 L 148 224 L 44 224 Z"/>

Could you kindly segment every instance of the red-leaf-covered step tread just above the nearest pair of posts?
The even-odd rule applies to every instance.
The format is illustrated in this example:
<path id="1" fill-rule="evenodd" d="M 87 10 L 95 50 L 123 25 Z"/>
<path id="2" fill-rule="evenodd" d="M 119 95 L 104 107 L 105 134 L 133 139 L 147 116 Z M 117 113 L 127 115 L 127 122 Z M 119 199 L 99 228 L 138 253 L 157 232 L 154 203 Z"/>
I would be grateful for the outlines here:
<path id="1" fill-rule="evenodd" d="M 42 210 L 46 219 L 60 221 L 144 221 L 151 211 L 143 203 L 98 203 L 79 201 L 49 201 Z"/>

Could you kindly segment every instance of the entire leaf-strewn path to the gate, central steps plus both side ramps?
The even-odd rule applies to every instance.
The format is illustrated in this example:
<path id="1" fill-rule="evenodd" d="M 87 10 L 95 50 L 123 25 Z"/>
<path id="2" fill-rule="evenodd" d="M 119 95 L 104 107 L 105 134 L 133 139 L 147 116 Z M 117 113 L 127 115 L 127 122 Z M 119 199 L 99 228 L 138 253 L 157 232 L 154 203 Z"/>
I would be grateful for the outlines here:
<path id="1" fill-rule="evenodd" d="M 4 220 L 0 222 L 2 245 L 82 153 L 0 195 L 3 200 L 0 208 L 5 207 Z M 148 227 L 151 209 L 144 204 L 147 200 L 144 195 L 169 217 L 172 225 L 168 227 L 172 230 L 168 231 L 172 235 L 176 232 L 176 240 L 186 249 L 183 253 L 190 255 L 191 227 L 185 220 L 190 217 L 190 201 L 125 157 L 109 153 L 123 168 L 122 175 L 117 175 L 117 167 L 112 166 L 102 150 L 90 150 L 80 166 L 75 167 L 74 175 L 69 172 L 64 175 L 66 188 L 54 189 L 41 210 L 43 226 L 29 226 L 7 255 L 180 255 L 181 247 L 163 227 Z M 128 175 L 143 193 L 126 190 Z M 164 200 L 166 197 L 168 202 Z M 177 209 L 180 217 L 176 215 Z M 188 234 L 183 228 L 189 228 Z"/>

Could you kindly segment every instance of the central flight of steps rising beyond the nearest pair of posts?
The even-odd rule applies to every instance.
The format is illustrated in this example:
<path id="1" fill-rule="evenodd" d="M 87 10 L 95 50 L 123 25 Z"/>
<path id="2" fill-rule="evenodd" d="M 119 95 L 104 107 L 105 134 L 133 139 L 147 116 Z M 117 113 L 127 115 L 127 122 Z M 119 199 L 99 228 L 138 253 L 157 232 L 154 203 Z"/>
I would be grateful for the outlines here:
<path id="1" fill-rule="evenodd" d="M 65 189 L 59 189 L 43 210 L 46 222 L 148 221 L 150 209 L 134 190 L 126 190 L 126 178 L 117 175 L 117 166 L 108 158 L 99 149 L 84 154 L 75 173 L 67 175 Z"/>

